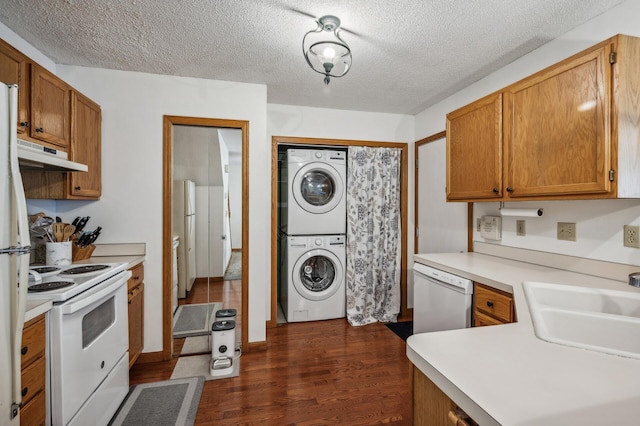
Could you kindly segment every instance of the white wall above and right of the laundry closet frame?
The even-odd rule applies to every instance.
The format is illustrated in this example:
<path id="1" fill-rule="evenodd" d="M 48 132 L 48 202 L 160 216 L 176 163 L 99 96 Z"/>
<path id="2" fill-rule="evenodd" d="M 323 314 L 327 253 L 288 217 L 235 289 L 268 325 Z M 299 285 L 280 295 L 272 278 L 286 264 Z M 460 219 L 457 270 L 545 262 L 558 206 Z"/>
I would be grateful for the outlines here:
<path id="1" fill-rule="evenodd" d="M 364 140 L 373 142 L 403 142 L 409 144 L 409 211 L 407 227 L 409 265 L 413 261 L 413 142 L 414 117 L 402 114 L 383 114 L 344 111 L 290 105 L 267 105 L 267 140 L 273 136 L 299 136 Z M 277 179 L 277 176 L 272 176 Z M 268 307 L 270 299 L 265 301 Z"/>

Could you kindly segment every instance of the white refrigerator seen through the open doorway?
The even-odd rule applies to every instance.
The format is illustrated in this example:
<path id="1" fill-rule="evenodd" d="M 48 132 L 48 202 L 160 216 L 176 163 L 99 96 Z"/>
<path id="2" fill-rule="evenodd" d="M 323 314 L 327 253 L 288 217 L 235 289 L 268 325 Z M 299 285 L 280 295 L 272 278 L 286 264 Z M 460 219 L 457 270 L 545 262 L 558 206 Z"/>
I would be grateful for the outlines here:
<path id="1" fill-rule="evenodd" d="M 173 185 L 173 231 L 178 235 L 178 297 L 185 298 L 196 279 L 196 184 L 190 180 Z"/>

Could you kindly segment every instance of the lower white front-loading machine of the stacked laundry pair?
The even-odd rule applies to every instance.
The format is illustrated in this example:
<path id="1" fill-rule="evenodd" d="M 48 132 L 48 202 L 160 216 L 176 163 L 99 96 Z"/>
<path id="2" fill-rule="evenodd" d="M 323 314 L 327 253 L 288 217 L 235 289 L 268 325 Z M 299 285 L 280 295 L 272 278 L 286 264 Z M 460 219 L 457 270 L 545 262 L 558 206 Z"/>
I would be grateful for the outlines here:
<path id="1" fill-rule="evenodd" d="M 287 321 L 345 317 L 345 236 L 289 236 L 286 256 L 280 302 Z"/>

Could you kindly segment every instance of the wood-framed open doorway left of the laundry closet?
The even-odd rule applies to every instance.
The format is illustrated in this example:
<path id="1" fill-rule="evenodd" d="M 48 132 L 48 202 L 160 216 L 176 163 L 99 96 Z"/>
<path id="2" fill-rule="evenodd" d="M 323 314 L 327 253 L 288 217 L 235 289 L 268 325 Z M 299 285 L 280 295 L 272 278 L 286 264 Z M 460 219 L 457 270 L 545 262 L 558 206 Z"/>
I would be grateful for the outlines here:
<path id="1" fill-rule="evenodd" d="M 173 241 L 174 185 L 193 182 L 196 202 L 197 235 L 191 249 L 196 259 L 194 276 L 189 281 L 185 303 L 221 302 L 224 308 L 236 308 L 238 334 L 243 348 L 248 339 L 248 135 L 249 123 L 240 120 L 164 116 L 163 166 L 163 359 L 179 355 L 174 346 L 173 314 L 175 309 Z M 237 148 L 227 146 L 237 136 Z M 221 141 L 226 140 L 226 143 Z M 203 142 L 204 141 L 204 142 Z M 179 148 L 179 149 L 178 149 Z M 238 155 L 238 171 L 233 173 L 234 153 Z M 191 158 L 192 160 L 189 160 Z M 197 159 L 197 160 L 193 160 Z M 222 160 L 221 160 L 222 159 Z M 230 173 L 231 172 L 231 173 Z M 233 182 L 230 176 L 237 176 Z M 224 183 L 221 183 L 224 180 Z M 237 180 L 241 182 L 237 182 Z M 220 189 L 223 188 L 223 189 Z M 230 194 L 233 191 L 233 194 Z M 233 199 L 232 199 L 233 198 Z M 197 201 L 197 199 L 196 199 Z M 199 206 L 199 207 L 198 207 Z M 198 223 L 199 230 L 198 230 Z M 231 228 L 240 236 L 233 236 Z M 240 230 L 241 228 L 241 230 Z M 181 242 L 179 241 L 178 244 Z M 184 242 L 182 242 L 184 243 Z M 224 280 L 231 254 L 241 258 L 240 274 L 233 281 Z M 184 253 L 183 253 L 184 256 Z M 198 267 L 198 263 L 200 266 Z M 238 280 L 239 278 L 239 280 Z M 238 293 L 240 295 L 238 296 Z M 185 296 L 181 294 L 180 296 Z M 241 306 L 225 304 L 240 300 Z M 214 300 L 215 299 L 215 300 Z M 184 340 L 184 339 L 182 339 Z"/>

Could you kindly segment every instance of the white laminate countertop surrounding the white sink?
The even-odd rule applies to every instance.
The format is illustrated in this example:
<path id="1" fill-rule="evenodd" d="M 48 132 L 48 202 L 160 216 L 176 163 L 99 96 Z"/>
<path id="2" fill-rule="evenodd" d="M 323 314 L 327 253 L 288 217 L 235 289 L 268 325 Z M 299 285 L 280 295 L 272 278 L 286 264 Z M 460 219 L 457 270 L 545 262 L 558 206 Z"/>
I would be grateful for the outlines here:
<path id="1" fill-rule="evenodd" d="M 623 281 L 479 253 L 424 254 L 414 260 L 513 293 L 517 323 L 416 334 L 407 340 L 411 362 L 476 422 L 640 422 L 640 360 L 538 339 L 522 282 L 640 289 Z"/>

